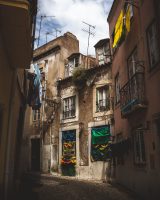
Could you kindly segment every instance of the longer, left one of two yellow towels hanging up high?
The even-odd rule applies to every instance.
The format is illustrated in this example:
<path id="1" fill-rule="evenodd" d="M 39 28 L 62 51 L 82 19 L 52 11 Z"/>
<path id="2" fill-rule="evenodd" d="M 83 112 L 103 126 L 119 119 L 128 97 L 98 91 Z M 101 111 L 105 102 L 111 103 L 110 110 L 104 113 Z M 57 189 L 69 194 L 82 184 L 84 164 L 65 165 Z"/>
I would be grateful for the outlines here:
<path id="1" fill-rule="evenodd" d="M 118 20 L 116 22 L 115 26 L 115 32 L 114 32 L 114 42 L 113 42 L 113 48 L 117 45 L 118 41 L 120 40 L 122 36 L 122 31 L 123 31 L 123 10 L 121 10 L 121 13 L 118 17 Z"/>

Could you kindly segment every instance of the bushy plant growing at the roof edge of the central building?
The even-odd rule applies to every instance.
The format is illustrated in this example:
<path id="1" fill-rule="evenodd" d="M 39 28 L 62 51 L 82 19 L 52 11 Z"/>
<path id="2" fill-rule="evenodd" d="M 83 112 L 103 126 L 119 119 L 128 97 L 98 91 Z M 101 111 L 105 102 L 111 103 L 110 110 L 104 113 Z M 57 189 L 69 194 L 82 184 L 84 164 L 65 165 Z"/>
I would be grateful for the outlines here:
<path id="1" fill-rule="evenodd" d="M 87 72 L 84 68 L 78 67 L 73 71 L 72 81 L 78 89 L 82 89 L 86 85 Z"/>

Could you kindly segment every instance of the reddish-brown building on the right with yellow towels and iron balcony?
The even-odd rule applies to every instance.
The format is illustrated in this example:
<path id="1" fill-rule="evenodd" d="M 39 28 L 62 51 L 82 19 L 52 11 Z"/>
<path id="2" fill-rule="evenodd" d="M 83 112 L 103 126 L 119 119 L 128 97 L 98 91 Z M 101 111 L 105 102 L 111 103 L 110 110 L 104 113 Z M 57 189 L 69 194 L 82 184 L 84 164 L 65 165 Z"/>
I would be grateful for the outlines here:
<path id="1" fill-rule="evenodd" d="M 159 192 L 159 1 L 113 2 L 108 16 L 113 54 L 112 179 L 146 199 Z"/>

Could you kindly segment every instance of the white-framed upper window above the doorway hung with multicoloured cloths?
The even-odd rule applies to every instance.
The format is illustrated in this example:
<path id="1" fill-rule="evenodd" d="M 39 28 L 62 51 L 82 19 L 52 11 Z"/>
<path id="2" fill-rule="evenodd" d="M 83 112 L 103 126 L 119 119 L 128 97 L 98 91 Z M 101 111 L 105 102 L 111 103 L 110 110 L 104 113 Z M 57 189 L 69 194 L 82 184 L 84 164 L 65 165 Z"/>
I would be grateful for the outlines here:
<path id="1" fill-rule="evenodd" d="M 76 96 L 68 97 L 63 100 L 63 118 L 68 119 L 75 117 L 75 100 Z"/>

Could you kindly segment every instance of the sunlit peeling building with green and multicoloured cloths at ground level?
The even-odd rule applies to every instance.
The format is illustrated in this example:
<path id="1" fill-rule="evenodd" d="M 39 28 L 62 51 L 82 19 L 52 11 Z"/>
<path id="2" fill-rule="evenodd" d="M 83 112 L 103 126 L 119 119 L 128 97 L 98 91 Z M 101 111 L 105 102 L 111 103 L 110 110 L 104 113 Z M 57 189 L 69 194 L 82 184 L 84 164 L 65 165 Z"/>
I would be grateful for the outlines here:
<path id="1" fill-rule="evenodd" d="M 93 63 L 85 68 L 83 64 L 58 82 L 61 98 L 58 170 L 62 175 L 106 180 L 113 119 L 109 40 L 95 46 L 97 55 L 99 49 L 104 55 L 99 61 L 97 56 L 96 66 Z"/>

